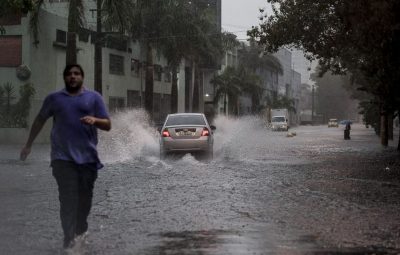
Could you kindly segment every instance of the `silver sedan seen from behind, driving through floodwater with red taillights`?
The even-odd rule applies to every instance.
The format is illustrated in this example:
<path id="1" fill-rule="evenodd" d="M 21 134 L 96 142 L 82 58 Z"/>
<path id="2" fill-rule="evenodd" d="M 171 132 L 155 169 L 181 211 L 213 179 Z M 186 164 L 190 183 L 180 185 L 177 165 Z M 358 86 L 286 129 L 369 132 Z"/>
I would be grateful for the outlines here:
<path id="1" fill-rule="evenodd" d="M 212 159 L 215 129 L 202 113 L 168 114 L 159 129 L 160 158 L 172 153 L 194 153 Z"/>

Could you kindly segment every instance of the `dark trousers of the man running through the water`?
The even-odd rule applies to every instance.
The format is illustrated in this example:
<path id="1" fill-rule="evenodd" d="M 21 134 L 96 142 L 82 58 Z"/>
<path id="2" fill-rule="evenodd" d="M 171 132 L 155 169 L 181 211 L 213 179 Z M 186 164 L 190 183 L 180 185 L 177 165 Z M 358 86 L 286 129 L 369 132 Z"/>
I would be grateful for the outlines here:
<path id="1" fill-rule="evenodd" d="M 64 247 L 68 247 L 75 236 L 88 229 L 87 217 L 92 206 L 97 170 L 90 165 L 63 160 L 55 160 L 51 165 L 58 184 Z"/>

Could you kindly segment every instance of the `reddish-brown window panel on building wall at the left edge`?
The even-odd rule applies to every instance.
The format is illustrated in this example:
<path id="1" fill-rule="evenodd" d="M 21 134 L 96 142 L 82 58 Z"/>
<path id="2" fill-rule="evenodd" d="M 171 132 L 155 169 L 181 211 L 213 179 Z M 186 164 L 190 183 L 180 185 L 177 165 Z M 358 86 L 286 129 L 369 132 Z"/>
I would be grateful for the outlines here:
<path id="1" fill-rule="evenodd" d="M 21 36 L 0 36 L 0 67 L 17 67 L 21 63 Z"/>

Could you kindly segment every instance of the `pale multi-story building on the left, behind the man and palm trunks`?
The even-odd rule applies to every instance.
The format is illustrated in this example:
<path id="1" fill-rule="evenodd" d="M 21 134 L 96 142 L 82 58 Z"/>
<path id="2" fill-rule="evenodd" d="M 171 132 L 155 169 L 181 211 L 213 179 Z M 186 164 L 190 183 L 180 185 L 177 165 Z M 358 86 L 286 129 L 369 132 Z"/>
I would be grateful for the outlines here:
<path id="1" fill-rule="evenodd" d="M 91 3 L 91 5 L 90 5 Z M 94 39 L 96 33 L 94 1 L 86 1 L 86 23 L 77 39 L 77 62 L 85 70 L 84 86 L 94 89 Z M 0 36 L 0 85 L 11 83 L 18 91 L 25 83 L 32 83 L 36 91 L 28 123 L 32 123 L 44 98 L 64 87 L 62 72 L 65 67 L 67 10 L 66 1 L 49 0 L 39 15 L 38 41 L 30 30 L 29 15 L 1 20 L 6 30 Z M 138 43 L 127 37 L 110 37 L 102 49 L 102 95 L 109 110 L 143 105 L 144 68 Z M 154 118 L 161 119 L 169 112 L 171 74 L 165 58 L 154 54 Z M 178 74 L 178 111 L 185 111 L 184 61 Z M 18 75 L 23 70 L 25 75 Z M 18 97 L 18 95 L 16 95 Z M 13 100 L 17 100 L 17 98 Z M 162 105 L 162 107 L 160 107 Z M 49 122 L 45 129 L 49 129 Z M 0 128 L 0 141 L 23 142 L 28 130 Z M 41 132 L 38 142 L 47 142 L 48 133 Z"/>

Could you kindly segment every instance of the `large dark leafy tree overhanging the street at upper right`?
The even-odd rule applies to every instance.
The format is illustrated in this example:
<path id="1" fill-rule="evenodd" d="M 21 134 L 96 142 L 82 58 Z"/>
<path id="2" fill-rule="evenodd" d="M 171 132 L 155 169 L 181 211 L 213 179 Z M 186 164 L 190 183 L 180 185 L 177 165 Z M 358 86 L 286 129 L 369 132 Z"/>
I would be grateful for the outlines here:
<path id="1" fill-rule="evenodd" d="M 248 34 L 270 52 L 284 45 L 302 49 L 309 59 L 319 59 L 321 73 L 362 77 L 360 88 L 376 98 L 382 123 L 387 123 L 388 113 L 400 107 L 399 1 L 268 2 L 273 15 L 265 15 Z M 387 140 L 383 128 L 381 143 L 387 146 Z"/>

